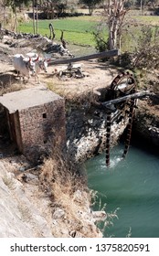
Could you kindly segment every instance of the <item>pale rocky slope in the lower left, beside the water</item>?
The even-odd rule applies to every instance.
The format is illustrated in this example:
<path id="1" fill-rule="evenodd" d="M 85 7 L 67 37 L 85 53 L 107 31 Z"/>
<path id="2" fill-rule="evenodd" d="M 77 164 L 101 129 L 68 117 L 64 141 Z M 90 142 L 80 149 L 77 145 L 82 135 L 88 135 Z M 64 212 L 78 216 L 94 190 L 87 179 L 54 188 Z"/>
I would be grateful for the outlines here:
<path id="1" fill-rule="evenodd" d="M 0 160 L 1 238 L 102 236 L 94 223 L 105 219 L 106 214 L 104 211 L 90 211 L 86 191 L 79 187 L 71 194 L 65 191 L 64 195 L 61 194 L 62 185 L 59 188 L 58 183 L 54 183 L 54 193 L 57 186 L 62 197 L 58 195 L 60 200 L 58 197 L 53 200 L 50 197 L 51 187 L 47 184 L 43 189 L 44 182 L 42 185 L 38 171 L 24 171 L 24 163 L 26 159 L 23 156 Z M 49 166 L 48 171 L 51 169 Z"/>

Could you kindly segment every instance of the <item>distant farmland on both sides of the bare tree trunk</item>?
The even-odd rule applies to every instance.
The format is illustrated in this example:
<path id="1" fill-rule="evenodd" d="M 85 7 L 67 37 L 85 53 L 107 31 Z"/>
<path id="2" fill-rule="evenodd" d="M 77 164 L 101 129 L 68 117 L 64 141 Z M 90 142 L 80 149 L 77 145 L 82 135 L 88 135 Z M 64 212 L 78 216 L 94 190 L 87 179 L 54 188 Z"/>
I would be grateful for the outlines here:
<path id="1" fill-rule="evenodd" d="M 136 15 L 135 15 L 136 14 Z M 48 24 L 53 22 L 55 28 L 55 41 L 58 41 L 61 30 L 64 31 L 64 39 L 80 46 L 95 47 L 93 31 L 96 31 L 100 25 L 101 16 L 78 16 L 55 20 L 39 20 L 38 34 L 49 37 Z M 159 27 L 159 16 L 140 16 L 139 13 L 133 11 L 126 16 L 127 30 L 123 32 L 122 50 L 133 50 L 138 44 L 138 38 L 141 35 L 143 25 Z M 137 24 L 137 26 L 136 26 Z M 154 29 L 154 28 L 153 28 Z M 33 33 L 32 21 L 19 25 L 18 30 L 21 32 Z M 108 30 L 105 26 L 105 37 L 108 36 Z"/>

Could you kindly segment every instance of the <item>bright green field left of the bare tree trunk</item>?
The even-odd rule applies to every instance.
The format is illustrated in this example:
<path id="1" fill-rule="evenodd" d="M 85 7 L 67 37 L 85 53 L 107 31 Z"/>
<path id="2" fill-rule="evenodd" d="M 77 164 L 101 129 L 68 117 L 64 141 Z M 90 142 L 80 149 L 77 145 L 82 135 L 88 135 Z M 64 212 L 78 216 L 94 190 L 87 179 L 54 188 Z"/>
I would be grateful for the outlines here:
<path id="1" fill-rule="evenodd" d="M 95 46 L 93 31 L 96 31 L 99 22 L 89 16 L 71 17 L 56 20 L 39 20 L 38 34 L 49 37 L 48 24 L 52 22 L 55 29 L 55 40 L 59 40 L 61 30 L 64 31 L 64 39 L 70 43 L 82 46 Z M 19 25 L 20 32 L 33 33 L 32 22 Z"/>

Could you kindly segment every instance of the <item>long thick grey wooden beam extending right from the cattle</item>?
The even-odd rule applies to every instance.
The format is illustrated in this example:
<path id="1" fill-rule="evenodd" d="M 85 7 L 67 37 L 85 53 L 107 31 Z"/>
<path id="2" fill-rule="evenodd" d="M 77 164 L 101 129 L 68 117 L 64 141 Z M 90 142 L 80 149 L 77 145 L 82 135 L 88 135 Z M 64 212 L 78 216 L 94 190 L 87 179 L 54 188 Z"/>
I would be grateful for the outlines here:
<path id="1" fill-rule="evenodd" d="M 100 53 L 94 53 L 86 56 L 81 56 L 77 58 L 70 58 L 70 59 L 56 59 L 56 60 L 50 60 L 48 62 L 48 65 L 54 65 L 54 64 L 67 64 L 71 62 L 77 62 L 80 60 L 89 60 L 89 59 L 102 59 L 106 57 L 114 57 L 120 55 L 119 49 L 112 49 L 108 51 L 102 51 Z"/>

